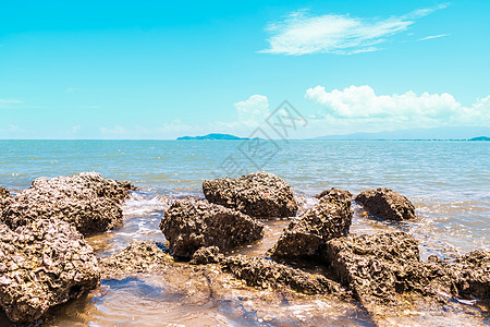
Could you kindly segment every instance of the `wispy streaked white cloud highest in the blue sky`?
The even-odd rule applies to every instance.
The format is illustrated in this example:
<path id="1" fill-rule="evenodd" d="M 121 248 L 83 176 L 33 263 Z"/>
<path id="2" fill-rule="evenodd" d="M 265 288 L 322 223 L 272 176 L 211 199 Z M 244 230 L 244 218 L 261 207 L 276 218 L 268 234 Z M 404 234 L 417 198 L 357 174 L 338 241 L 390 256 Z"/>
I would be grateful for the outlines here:
<path id="1" fill-rule="evenodd" d="M 270 48 L 260 52 L 274 55 L 338 53 L 353 55 L 380 50 L 390 36 L 409 28 L 417 19 L 448 4 L 413 11 L 387 19 L 359 19 L 350 15 L 314 15 L 307 10 L 289 14 L 269 24 Z"/>

